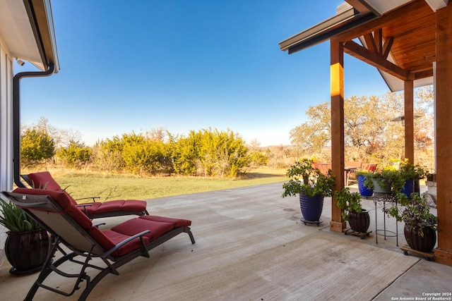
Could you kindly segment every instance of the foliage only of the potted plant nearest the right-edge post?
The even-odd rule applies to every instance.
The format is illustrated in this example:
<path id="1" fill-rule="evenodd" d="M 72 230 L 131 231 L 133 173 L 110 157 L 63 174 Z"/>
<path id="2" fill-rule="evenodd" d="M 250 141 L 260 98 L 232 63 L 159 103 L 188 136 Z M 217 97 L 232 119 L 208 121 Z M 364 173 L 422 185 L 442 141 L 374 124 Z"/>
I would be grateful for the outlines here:
<path id="1" fill-rule="evenodd" d="M 398 192 L 398 195 L 403 193 Z M 416 229 L 417 233 L 424 237 L 424 228 L 432 228 L 434 231 L 439 231 L 438 218 L 430 213 L 429 205 L 427 204 L 427 196 L 413 192 L 411 198 L 400 197 L 400 205 L 388 207 L 384 212 L 388 216 L 393 216 L 397 221 L 403 221 L 406 226 Z"/>

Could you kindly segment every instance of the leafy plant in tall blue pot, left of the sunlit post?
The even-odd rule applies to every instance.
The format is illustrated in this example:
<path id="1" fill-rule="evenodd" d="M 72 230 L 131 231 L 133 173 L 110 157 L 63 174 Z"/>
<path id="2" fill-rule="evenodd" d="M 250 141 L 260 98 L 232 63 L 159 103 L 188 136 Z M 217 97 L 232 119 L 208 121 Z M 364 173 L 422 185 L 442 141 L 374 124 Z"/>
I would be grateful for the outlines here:
<path id="1" fill-rule="evenodd" d="M 335 179 L 331 170 L 323 174 L 314 167 L 314 161 L 302 159 L 287 170 L 289 182 L 283 184 L 283 197 L 299 195 L 302 221 L 304 223 L 321 223 L 324 197 L 331 197 Z"/>

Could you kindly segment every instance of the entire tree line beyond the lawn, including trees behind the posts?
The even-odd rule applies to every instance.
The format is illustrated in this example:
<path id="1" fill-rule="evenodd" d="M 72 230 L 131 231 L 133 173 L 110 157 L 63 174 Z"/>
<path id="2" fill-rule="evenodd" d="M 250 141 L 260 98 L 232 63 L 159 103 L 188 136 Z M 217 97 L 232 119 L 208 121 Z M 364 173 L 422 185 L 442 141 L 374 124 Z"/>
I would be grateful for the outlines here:
<path id="1" fill-rule="evenodd" d="M 403 94 L 345 99 L 345 159 L 384 166 L 390 159 L 403 159 Z M 415 93 L 415 161 L 434 170 L 433 89 Z M 290 130 L 292 145 L 260 147 L 246 144 L 231 130 L 192 130 L 186 137 L 164 128 L 145 133 L 127 133 L 101 140 L 93 147 L 81 141 L 74 130 L 58 130 L 41 118 L 37 125 L 23 127 L 21 162 L 33 166 L 43 161 L 66 168 L 90 168 L 109 173 L 140 175 L 179 174 L 235 178 L 250 167 L 287 168 L 302 157 L 331 161 L 331 108 L 329 102 L 309 107 L 308 120 Z"/>

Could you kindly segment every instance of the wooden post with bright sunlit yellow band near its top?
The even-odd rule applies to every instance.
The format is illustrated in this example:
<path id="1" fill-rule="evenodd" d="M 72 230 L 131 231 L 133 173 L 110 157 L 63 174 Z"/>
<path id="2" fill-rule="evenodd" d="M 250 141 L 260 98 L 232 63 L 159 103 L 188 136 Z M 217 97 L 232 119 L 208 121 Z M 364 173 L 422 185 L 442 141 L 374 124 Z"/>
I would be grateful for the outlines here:
<path id="1" fill-rule="evenodd" d="M 334 190 L 344 187 L 344 47 L 331 39 L 331 169 L 335 176 Z M 346 226 L 341 209 L 332 198 L 330 230 L 342 232 Z"/>

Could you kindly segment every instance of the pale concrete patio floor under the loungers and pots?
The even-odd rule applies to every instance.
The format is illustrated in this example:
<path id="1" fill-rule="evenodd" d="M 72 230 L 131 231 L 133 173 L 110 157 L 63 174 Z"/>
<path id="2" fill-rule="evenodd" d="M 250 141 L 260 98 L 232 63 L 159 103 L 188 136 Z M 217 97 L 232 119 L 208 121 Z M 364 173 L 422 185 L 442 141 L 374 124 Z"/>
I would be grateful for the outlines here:
<path id="1" fill-rule="evenodd" d="M 363 207 L 370 211 L 372 232 L 360 239 L 329 231 L 330 198 L 323 223 L 304 225 L 297 197 L 283 199 L 282 192 L 282 183 L 274 183 L 149 199 L 150 214 L 191 219 L 196 244 L 178 235 L 151 250 L 150 258 L 119 268 L 119 276 L 106 276 L 88 300 L 415 300 L 452 292 L 452 266 L 405 256 L 393 236 L 378 235 L 376 244 L 371 199 Z M 114 226 L 127 219 L 95 222 Z M 395 232 L 393 219 L 386 219 L 386 229 Z M 400 223 L 398 234 L 402 246 Z M 37 274 L 12 276 L 10 268 L 3 259 L 0 300 L 23 300 Z M 50 279 L 60 288 L 67 282 Z M 64 297 L 40 288 L 34 300 L 77 300 L 80 293 Z"/>

